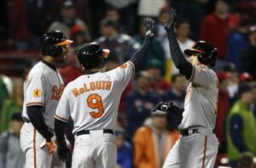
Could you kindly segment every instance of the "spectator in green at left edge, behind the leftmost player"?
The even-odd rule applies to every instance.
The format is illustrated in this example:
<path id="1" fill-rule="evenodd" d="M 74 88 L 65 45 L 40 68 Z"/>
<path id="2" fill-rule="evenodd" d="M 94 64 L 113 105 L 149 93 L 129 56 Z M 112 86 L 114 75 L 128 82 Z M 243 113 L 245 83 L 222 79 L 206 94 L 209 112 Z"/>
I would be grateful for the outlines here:
<path id="1" fill-rule="evenodd" d="M 1 125 L 0 133 L 9 129 L 9 120 L 11 116 L 22 109 L 23 105 L 23 80 L 20 78 L 12 79 L 14 85 L 10 98 L 3 102 L 3 108 L 1 110 Z"/>

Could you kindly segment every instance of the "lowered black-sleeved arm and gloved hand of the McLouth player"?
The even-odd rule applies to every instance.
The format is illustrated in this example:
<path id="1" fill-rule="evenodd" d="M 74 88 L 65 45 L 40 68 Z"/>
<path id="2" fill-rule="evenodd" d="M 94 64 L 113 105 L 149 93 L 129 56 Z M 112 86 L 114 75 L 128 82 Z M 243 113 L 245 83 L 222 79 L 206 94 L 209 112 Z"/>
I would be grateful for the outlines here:
<path id="1" fill-rule="evenodd" d="M 70 149 L 67 147 L 65 140 L 65 130 L 66 122 L 55 119 L 55 136 L 57 139 L 57 154 L 61 161 L 66 162 L 71 156 Z"/>

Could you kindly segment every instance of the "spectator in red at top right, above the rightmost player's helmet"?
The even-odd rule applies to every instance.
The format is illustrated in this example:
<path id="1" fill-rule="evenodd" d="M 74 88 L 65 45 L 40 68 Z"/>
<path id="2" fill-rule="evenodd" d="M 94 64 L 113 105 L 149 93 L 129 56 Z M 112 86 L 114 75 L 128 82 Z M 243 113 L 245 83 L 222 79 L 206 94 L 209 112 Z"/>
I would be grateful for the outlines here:
<path id="1" fill-rule="evenodd" d="M 227 37 L 238 25 L 238 18 L 230 14 L 225 0 L 217 0 L 215 10 L 208 14 L 201 24 L 201 40 L 212 43 L 218 48 L 218 59 L 227 57 Z"/>

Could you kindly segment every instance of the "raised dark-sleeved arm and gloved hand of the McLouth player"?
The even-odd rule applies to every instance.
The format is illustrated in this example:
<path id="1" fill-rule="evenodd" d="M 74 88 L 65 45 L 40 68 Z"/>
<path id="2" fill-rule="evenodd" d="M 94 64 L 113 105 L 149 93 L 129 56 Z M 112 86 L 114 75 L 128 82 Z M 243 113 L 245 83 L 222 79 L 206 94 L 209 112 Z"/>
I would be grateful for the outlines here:
<path id="1" fill-rule="evenodd" d="M 147 55 L 151 42 L 154 37 L 154 21 L 151 19 L 145 20 L 146 36 L 143 42 L 143 46 L 133 53 L 131 56 L 131 62 L 137 66 L 137 64 Z"/>

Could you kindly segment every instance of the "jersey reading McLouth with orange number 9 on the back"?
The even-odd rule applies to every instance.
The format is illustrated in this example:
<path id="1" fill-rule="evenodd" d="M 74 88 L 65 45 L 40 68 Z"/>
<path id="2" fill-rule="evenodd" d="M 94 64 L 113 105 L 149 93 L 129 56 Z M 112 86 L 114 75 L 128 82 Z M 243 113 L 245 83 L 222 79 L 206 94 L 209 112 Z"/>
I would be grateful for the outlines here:
<path id="1" fill-rule="evenodd" d="M 83 130 L 113 129 L 119 101 L 132 80 L 131 61 L 108 72 L 79 76 L 65 88 L 56 109 L 55 118 L 73 119 L 73 133 Z"/>

